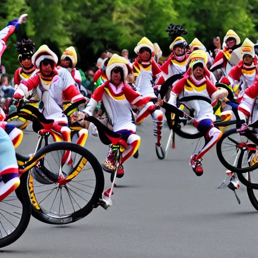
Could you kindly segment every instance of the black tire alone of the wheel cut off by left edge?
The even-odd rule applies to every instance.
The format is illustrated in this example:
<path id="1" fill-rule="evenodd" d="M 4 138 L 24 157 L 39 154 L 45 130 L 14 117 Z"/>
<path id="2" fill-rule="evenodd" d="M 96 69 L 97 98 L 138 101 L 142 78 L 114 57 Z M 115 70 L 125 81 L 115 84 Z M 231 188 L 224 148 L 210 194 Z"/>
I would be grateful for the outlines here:
<path id="1" fill-rule="evenodd" d="M 0 248 L 14 243 L 23 235 L 29 225 L 31 217 L 31 203 L 30 198 L 27 194 L 27 174 L 29 174 L 29 172 L 21 175 L 20 186 L 15 190 L 16 196 L 20 200 L 23 207 L 21 220 L 17 228 L 10 235 L 0 238 Z"/>

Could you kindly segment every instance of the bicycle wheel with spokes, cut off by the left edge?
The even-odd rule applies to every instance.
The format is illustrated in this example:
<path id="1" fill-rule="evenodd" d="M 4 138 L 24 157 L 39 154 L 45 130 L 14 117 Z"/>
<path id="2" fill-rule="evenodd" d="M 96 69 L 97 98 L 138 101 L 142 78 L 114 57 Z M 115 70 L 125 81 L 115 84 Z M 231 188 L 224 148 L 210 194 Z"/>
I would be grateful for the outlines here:
<path id="1" fill-rule="evenodd" d="M 0 202 L 0 248 L 15 242 L 25 232 L 31 217 L 27 193 L 27 174 L 21 176 L 20 186 Z"/>

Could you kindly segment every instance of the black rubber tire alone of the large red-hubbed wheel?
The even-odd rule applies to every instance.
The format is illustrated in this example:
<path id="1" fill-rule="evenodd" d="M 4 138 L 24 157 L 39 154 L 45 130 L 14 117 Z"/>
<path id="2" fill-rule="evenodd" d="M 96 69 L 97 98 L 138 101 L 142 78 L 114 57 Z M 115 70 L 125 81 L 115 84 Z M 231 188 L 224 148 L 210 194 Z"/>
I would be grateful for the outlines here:
<path id="1" fill-rule="evenodd" d="M 94 174 L 96 176 L 96 187 L 91 200 L 88 202 L 88 204 L 85 207 L 83 207 L 78 211 L 75 211 L 70 215 L 63 216 L 63 217 L 53 217 L 53 216 L 50 216 L 49 214 L 46 214 L 41 208 L 39 210 L 36 209 L 31 203 L 32 216 L 35 219 L 47 224 L 64 225 L 64 224 L 74 223 L 86 217 L 92 212 L 93 208 L 98 207 L 99 199 L 102 198 L 102 192 L 104 190 L 104 175 L 103 175 L 102 167 L 98 162 L 97 158 L 87 149 L 74 143 L 57 142 L 57 143 L 49 144 L 43 147 L 42 149 L 40 149 L 39 152 L 37 152 L 37 156 L 42 156 L 45 153 L 58 151 L 58 150 L 69 150 L 69 151 L 78 153 L 82 157 L 86 158 L 87 161 L 91 164 L 94 170 Z M 27 186 L 29 186 L 29 174 L 27 176 Z M 29 187 L 27 188 L 30 195 L 31 192 L 29 191 Z"/>

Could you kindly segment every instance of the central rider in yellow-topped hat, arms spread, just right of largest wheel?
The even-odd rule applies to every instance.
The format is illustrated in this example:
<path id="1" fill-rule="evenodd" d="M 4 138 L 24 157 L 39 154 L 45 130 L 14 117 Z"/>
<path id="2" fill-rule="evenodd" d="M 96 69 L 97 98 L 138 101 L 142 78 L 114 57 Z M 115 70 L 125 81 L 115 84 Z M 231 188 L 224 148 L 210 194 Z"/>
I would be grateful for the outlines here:
<path id="1" fill-rule="evenodd" d="M 136 153 L 141 143 L 140 136 L 135 134 L 136 119 L 131 105 L 141 107 L 146 105 L 151 97 L 142 97 L 130 85 L 125 83 L 127 76 L 132 75 L 133 71 L 130 68 L 128 60 L 124 57 L 113 54 L 107 64 L 105 73 L 108 81 L 94 91 L 84 113 L 73 113 L 71 115 L 71 121 L 72 123 L 79 122 L 83 127 L 86 127 L 87 122 L 84 120 L 84 117 L 93 115 L 98 102 L 102 100 L 107 116 L 113 126 L 113 131 L 122 134 L 122 139 L 128 144 L 128 148 L 122 153 L 122 163 L 124 163 Z M 148 105 L 142 114 L 142 118 L 146 118 L 154 108 L 154 105 Z M 111 149 L 102 167 L 107 172 L 112 172 L 115 169 Z M 118 168 L 116 176 L 122 177 L 123 175 L 124 170 L 121 165 Z"/>

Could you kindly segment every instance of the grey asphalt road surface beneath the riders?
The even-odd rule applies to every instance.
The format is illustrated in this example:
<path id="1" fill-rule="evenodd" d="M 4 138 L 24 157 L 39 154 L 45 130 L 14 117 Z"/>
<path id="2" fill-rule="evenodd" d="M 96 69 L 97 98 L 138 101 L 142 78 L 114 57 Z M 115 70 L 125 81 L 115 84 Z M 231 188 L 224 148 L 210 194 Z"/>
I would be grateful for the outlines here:
<path id="1" fill-rule="evenodd" d="M 170 149 L 160 161 L 151 119 L 139 126 L 138 133 L 142 138 L 140 156 L 125 163 L 112 207 L 107 211 L 99 207 L 67 226 L 51 226 L 32 218 L 25 234 L 1 250 L 1 258 L 256 258 L 258 212 L 244 186 L 238 190 L 241 205 L 233 191 L 217 189 L 225 169 L 216 150 L 206 154 L 204 174 L 197 177 L 189 167 L 196 141 L 176 138 L 176 149 Z M 32 152 L 36 141 L 36 134 L 25 133 L 19 150 Z M 107 147 L 99 139 L 90 136 L 87 148 L 104 160 Z"/>

